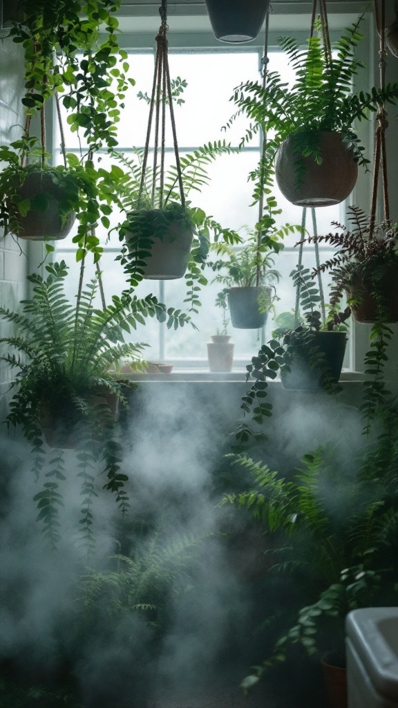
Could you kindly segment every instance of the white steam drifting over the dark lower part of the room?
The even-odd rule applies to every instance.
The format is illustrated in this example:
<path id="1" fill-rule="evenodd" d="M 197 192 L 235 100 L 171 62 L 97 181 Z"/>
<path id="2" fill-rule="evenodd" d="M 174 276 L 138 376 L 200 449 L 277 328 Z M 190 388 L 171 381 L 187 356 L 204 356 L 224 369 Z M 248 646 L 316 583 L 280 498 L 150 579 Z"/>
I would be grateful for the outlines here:
<path id="1" fill-rule="evenodd" d="M 98 479 L 96 552 L 90 559 L 96 571 L 116 571 L 110 556 L 120 552 L 132 557 L 147 552 L 154 534 L 160 549 L 191 539 L 183 582 L 166 600 L 161 632 L 141 610 L 115 612 L 109 624 L 105 597 L 96 623 L 81 634 L 79 580 L 86 556 L 79 540 L 74 453 L 66 453 L 62 542 L 51 553 L 32 501 L 42 480 L 30 472 L 28 448 L 3 438 L 0 661 L 11 661 L 18 680 L 40 683 L 67 668 L 85 706 L 109 707 L 115 701 L 139 706 L 148 689 L 156 698 L 162 690 L 199 691 L 211 683 L 235 687 L 250 664 L 261 661 L 261 644 L 254 639 L 256 622 L 267 610 L 267 598 L 261 598 L 261 607 L 256 604 L 261 532 L 241 537 L 246 520 L 219 506 L 224 485 L 246 487 L 244 472 L 228 478 L 223 457 L 234 442 L 230 433 L 239 417 L 239 393 L 234 386 L 207 386 L 208 392 L 206 384 L 149 382 L 133 394 L 121 426 L 123 471 L 130 477 L 128 518 L 120 518 Z M 274 403 L 261 457 L 271 469 L 283 473 L 324 440 L 339 443 L 349 467 L 347 459 L 357 452 L 353 440 L 361 444 L 356 409 L 323 394 L 282 395 Z M 342 418 L 349 441 L 342 437 Z M 238 549 L 225 532 L 238 539 Z M 240 554 L 239 539 L 246 544 Z"/>

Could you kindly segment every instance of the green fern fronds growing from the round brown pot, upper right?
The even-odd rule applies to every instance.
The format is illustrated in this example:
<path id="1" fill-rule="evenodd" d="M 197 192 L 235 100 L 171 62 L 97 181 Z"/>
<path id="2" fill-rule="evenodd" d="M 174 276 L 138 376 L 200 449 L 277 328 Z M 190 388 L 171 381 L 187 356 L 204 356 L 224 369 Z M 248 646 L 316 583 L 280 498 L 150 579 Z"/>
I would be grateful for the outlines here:
<path id="1" fill-rule="evenodd" d="M 269 141 L 267 148 L 268 155 L 273 156 L 283 140 L 295 135 L 297 154 L 313 156 L 320 163 L 319 132 L 339 132 L 355 159 L 360 164 L 369 162 L 363 155 L 353 123 L 368 118 L 370 112 L 385 102 L 396 102 L 398 84 L 352 93 L 358 69 L 363 67 L 354 55 L 363 38 L 358 32 L 361 20 L 347 28 L 339 42 L 332 46 L 331 59 L 319 36 L 309 38 L 305 50 L 292 38 L 279 38 L 295 70 L 295 81 L 289 86 L 278 72 L 268 71 L 265 89 L 253 81 L 235 89 L 232 100 L 239 110 L 228 125 L 241 113 L 251 119 L 242 144 L 249 142 L 258 130 L 275 131 L 275 139 Z"/>

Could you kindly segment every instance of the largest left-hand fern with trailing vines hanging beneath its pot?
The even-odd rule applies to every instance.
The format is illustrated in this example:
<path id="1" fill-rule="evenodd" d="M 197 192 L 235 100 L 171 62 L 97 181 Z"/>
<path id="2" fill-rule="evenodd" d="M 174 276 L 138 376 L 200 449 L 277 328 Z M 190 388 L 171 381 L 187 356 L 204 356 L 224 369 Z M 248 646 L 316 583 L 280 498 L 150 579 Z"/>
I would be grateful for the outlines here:
<path id="1" fill-rule="evenodd" d="M 124 514 L 128 507 L 127 475 L 120 469 L 123 447 L 115 435 L 115 416 L 107 396 L 127 405 L 123 387 L 110 373 L 110 367 L 123 358 L 142 355 L 143 344 L 126 343 L 126 333 L 144 324 L 147 317 L 166 321 L 167 326 L 183 326 L 189 318 L 152 295 L 137 299 L 125 292 L 114 296 L 103 310 L 94 307 L 98 278 L 87 285 L 76 304 L 64 296 L 67 265 L 46 266 L 47 278 L 33 274 L 33 297 L 21 302 L 22 312 L 0 308 L 0 316 L 16 326 L 15 336 L 0 343 L 6 352 L 0 360 L 16 370 L 11 389 L 16 393 L 6 418 L 8 426 L 21 425 L 23 435 L 33 447 L 33 471 L 45 472 L 42 491 L 35 495 L 38 520 L 52 547 L 59 539 L 59 508 L 62 494 L 59 483 L 66 479 L 63 449 L 47 452 L 43 428 L 47 418 L 55 419 L 55 429 L 62 435 L 74 435 L 77 450 L 77 476 L 81 481 L 81 532 L 89 549 L 93 545 L 93 499 L 96 475 L 103 475 Z M 11 353 L 10 349 L 16 353 Z M 71 445 L 67 445 L 71 447 Z M 55 447 L 55 445 L 52 445 Z"/>

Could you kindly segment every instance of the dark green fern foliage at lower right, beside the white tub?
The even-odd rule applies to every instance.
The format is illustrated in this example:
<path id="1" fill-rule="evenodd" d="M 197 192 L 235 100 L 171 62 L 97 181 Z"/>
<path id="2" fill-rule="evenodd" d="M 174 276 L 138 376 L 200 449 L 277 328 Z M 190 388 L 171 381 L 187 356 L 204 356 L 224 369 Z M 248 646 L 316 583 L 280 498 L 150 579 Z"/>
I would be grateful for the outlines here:
<path id="1" fill-rule="evenodd" d="M 397 604 L 396 407 L 387 407 L 382 418 L 382 432 L 347 469 L 331 445 L 305 455 L 288 478 L 246 455 L 230 456 L 249 471 L 254 485 L 224 503 L 243 508 L 261 524 L 277 559 L 268 571 L 271 582 L 273 573 L 290 571 L 304 593 L 294 624 L 286 627 L 285 620 L 271 656 L 244 679 L 244 689 L 285 661 L 292 645 L 319 658 L 327 653 L 329 663 L 345 666 L 347 613 Z"/>

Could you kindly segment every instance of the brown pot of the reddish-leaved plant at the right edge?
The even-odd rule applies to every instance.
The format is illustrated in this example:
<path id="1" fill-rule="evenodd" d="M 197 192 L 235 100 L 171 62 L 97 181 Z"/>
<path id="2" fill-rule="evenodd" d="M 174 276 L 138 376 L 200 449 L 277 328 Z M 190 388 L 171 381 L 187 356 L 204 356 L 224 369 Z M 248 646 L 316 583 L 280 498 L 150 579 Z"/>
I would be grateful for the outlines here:
<path id="1" fill-rule="evenodd" d="M 358 274 L 352 278 L 351 286 L 347 289 L 348 297 L 358 300 L 358 304 L 351 307 L 353 318 L 363 324 L 375 324 L 383 321 L 394 324 L 398 322 L 398 270 L 396 265 L 388 265 L 381 280 L 377 280 L 377 295 L 382 301 L 382 311 L 379 312 L 377 300 L 373 291 L 375 286 L 369 279 Z"/>

